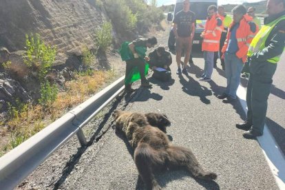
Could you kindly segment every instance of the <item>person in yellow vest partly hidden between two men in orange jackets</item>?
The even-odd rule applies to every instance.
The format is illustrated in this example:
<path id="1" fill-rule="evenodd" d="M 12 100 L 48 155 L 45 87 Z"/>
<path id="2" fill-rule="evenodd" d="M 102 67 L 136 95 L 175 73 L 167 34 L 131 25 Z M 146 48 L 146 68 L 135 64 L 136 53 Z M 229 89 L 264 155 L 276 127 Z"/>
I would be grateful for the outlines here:
<path id="1" fill-rule="evenodd" d="M 220 39 L 220 60 L 222 65 L 222 70 L 224 70 L 224 59 L 222 58 L 222 46 L 224 46 L 224 41 L 226 40 L 226 34 L 228 34 L 228 28 L 231 25 L 231 22 L 233 19 L 224 12 L 223 6 L 218 6 L 218 14 L 220 15 L 220 18 L 222 19 L 222 23 L 224 25 L 224 30 L 222 30 L 221 39 Z M 214 54 L 214 68 L 217 67 L 217 60 L 218 60 L 218 52 L 215 52 Z"/>

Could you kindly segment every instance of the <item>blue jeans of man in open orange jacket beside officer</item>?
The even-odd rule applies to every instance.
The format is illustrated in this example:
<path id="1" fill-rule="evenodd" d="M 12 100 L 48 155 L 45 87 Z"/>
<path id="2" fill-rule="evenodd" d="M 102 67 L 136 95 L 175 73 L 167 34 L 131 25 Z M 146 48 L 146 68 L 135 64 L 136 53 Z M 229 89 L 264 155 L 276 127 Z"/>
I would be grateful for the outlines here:
<path id="1" fill-rule="evenodd" d="M 244 63 L 235 54 L 226 52 L 224 54 L 224 65 L 226 72 L 226 91 L 224 94 L 237 98 L 237 87 L 240 85 L 240 73 Z"/>

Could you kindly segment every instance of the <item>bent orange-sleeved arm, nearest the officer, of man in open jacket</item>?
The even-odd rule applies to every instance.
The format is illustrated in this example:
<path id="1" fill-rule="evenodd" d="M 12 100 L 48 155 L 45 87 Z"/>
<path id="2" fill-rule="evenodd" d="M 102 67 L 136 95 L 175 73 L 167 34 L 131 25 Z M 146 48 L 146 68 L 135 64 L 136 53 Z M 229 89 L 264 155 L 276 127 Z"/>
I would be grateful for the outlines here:
<path id="1" fill-rule="evenodd" d="M 247 32 L 246 43 L 244 43 L 244 45 L 242 45 L 242 47 L 240 47 L 240 49 L 235 53 L 237 58 L 242 59 L 242 57 L 246 55 L 247 51 L 249 50 L 249 45 L 257 33 L 257 28 L 258 26 L 254 22 L 249 22 L 249 32 Z"/>

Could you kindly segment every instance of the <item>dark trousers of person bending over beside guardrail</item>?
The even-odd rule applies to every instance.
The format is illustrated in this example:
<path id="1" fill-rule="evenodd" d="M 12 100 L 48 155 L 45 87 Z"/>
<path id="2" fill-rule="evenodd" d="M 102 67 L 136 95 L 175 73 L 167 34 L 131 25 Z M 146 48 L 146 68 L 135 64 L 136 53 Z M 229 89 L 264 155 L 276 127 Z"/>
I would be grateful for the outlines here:
<path id="1" fill-rule="evenodd" d="M 126 61 L 126 73 L 125 77 L 127 77 L 129 74 L 131 74 L 131 70 L 134 69 L 134 67 L 138 66 L 138 70 L 140 72 L 140 81 L 141 83 L 144 83 L 147 81 L 147 78 L 145 78 L 145 61 L 142 61 L 142 59 L 131 59 Z M 131 87 L 131 84 L 125 84 L 125 87 Z"/>

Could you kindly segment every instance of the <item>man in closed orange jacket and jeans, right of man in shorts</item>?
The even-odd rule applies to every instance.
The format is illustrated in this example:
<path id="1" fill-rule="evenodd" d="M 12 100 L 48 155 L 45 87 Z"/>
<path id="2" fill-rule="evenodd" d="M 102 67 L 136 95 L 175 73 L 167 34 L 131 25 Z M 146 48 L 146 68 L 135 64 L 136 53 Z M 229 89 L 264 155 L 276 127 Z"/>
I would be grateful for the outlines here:
<path id="1" fill-rule="evenodd" d="M 209 17 L 207 18 L 205 29 L 201 34 L 203 39 L 202 51 L 204 52 L 204 72 L 201 74 L 200 81 L 211 81 L 213 73 L 213 58 L 214 52 L 220 49 L 220 38 L 224 26 L 222 19 L 217 14 L 216 6 L 209 6 Z"/>

